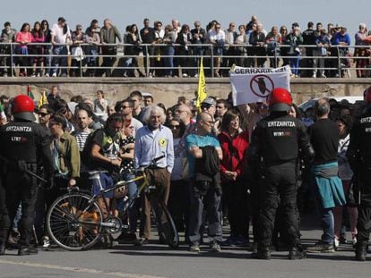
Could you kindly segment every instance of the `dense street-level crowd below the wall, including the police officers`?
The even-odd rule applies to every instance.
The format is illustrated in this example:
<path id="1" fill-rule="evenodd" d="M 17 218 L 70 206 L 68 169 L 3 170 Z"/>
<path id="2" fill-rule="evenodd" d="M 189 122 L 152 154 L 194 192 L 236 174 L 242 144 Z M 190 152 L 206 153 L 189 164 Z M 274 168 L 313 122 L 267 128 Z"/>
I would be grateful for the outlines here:
<path id="1" fill-rule="evenodd" d="M 39 106 L 24 95 L 0 97 L 0 255 L 17 236 L 18 255 L 37 254 L 35 242 L 48 247 L 45 215 L 61 189 L 78 186 L 99 194 L 89 171 L 106 170 L 99 175 L 108 189 L 117 180 L 130 180 L 134 168 L 150 166 L 147 175 L 157 197 L 168 204 L 191 252 L 200 252 L 207 232 L 214 252 L 250 245 L 253 257 L 269 259 L 272 246 L 284 245 L 290 259 L 333 253 L 346 241 L 347 207 L 356 258 L 366 260 L 371 88 L 364 103 L 321 98 L 306 112 L 284 88 L 273 89 L 268 103 L 238 106 L 231 94 L 207 97 L 200 107 L 178 97 L 168 108 L 140 91 L 116 103 L 102 90 L 96 95 L 65 100 L 53 86 L 47 104 Z M 156 164 L 154 157 L 160 157 Z M 48 186 L 39 187 L 30 173 L 43 176 Z M 143 246 L 150 242 L 153 203 L 135 192 L 131 182 L 99 198 L 99 204 L 105 216 L 112 213 L 128 224 L 118 241 Z M 120 214 L 123 198 L 135 199 L 128 215 Z M 111 211 L 105 211 L 105 201 Z M 312 203 L 324 234 L 305 251 L 299 211 L 313 213 Z M 226 240 L 223 221 L 230 224 Z"/>

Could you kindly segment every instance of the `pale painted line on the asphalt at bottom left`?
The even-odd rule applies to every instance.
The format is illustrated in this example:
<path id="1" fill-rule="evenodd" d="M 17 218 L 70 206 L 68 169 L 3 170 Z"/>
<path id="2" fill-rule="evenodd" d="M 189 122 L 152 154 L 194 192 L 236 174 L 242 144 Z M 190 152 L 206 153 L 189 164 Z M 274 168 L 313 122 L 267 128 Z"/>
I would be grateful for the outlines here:
<path id="1" fill-rule="evenodd" d="M 22 266 L 29 266 L 35 268 L 47 268 L 47 269 L 56 269 L 56 270 L 63 270 L 63 271 L 71 271 L 74 273 L 86 273 L 86 274 L 104 274 L 114 277 L 125 277 L 125 278 L 165 278 L 162 276 L 152 276 L 152 275 L 142 275 L 142 274 L 124 274 L 120 272 L 110 272 L 104 271 L 99 269 L 91 269 L 91 268 L 83 268 L 83 267 L 70 267 L 70 266 L 62 266 L 62 265 L 46 265 L 46 264 L 38 264 L 38 263 L 30 263 L 30 262 L 15 262 L 6 259 L 0 259 L 0 264 L 4 265 L 22 265 Z"/>

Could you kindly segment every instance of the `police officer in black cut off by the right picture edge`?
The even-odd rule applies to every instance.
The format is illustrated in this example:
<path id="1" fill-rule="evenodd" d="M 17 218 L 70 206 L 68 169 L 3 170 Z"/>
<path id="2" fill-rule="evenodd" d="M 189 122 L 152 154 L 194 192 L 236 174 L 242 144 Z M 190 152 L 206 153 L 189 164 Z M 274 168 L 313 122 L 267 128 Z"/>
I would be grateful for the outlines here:
<path id="1" fill-rule="evenodd" d="M 367 241 L 371 232 L 371 87 L 365 90 L 364 98 L 366 109 L 350 131 L 347 151 L 350 167 L 355 174 L 353 180 L 358 202 L 358 261 L 366 261 Z"/>

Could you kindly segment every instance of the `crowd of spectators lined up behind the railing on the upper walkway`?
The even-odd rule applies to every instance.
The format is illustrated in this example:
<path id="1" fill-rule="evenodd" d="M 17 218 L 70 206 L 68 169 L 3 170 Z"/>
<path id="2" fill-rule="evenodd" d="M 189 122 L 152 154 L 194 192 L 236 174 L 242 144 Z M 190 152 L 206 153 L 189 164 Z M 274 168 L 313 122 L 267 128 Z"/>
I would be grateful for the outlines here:
<path id="1" fill-rule="evenodd" d="M 192 28 L 177 20 L 151 25 L 144 19 L 142 29 L 131 24 L 123 34 L 109 19 L 101 28 L 94 19 L 83 32 L 82 24 L 72 30 L 59 17 L 51 28 L 43 20 L 35 21 L 33 28 L 25 22 L 19 31 L 7 21 L 0 42 L 0 73 L 5 77 L 15 75 L 15 65 L 18 76 L 196 77 L 203 55 L 206 74 L 214 77 L 229 76 L 233 64 L 290 65 L 293 78 L 344 77 L 352 62 L 358 78 L 370 77 L 371 34 L 366 23 L 359 24 L 352 44 L 347 28 L 339 23 L 309 21 L 305 29 L 293 22 L 291 29 L 282 25 L 267 31 L 254 15 L 246 24 L 230 22 L 222 28 L 215 20 L 204 29 L 200 21 Z M 117 55 L 119 44 L 124 44 L 124 57 Z"/>

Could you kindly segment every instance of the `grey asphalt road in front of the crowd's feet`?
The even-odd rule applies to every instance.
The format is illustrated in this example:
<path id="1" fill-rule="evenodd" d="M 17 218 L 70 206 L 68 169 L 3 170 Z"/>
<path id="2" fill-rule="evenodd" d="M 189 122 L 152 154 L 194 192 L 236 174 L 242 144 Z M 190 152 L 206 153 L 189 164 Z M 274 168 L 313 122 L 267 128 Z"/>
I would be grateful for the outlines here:
<path id="1" fill-rule="evenodd" d="M 226 230 L 227 231 L 227 230 Z M 156 232 L 152 232 L 156 235 Z M 302 223 L 305 246 L 321 235 L 318 226 Z M 202 246 L 200 254 L 190 253 L 182 244 L 179 249 L 159 245 L 155 236 L 149 245 L 134 247 L 119 244 L 113 249 L 91 249 L 69 252 L 62 249 L 39 249 L 39 255 L 18 257 L 7 250 L 0 257 L 0 277 L 367 277 L 371 276 L 371 254 L 367 262 L 353 259 L 350 244 L 341 245 L 334 254 L 310 254 L 305 260 L 290 261 L 288 252 L 272 252 L 272 259 L 257 260 L 246 248 L 222 248 L 211 253 Z"/>

